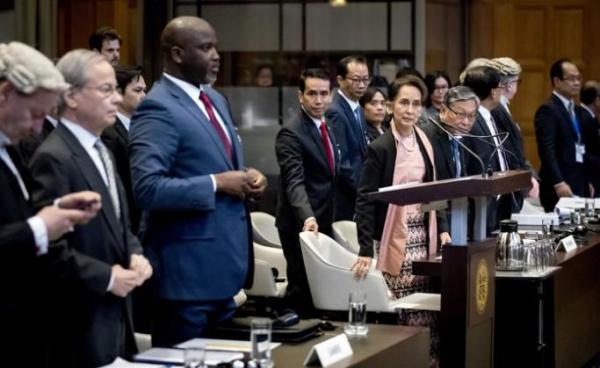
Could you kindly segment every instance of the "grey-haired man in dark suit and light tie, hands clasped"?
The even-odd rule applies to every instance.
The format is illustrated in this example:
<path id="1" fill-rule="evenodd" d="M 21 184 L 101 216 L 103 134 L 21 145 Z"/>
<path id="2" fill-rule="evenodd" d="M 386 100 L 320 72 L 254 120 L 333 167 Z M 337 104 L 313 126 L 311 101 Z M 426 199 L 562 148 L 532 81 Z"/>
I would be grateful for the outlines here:
<path id="1" fill-rule="evenodd" d="M 68 251 L 56 260 L 56 272 L 65 271 L 65 259 L 76 267 L 51 289 L 56 332 L 48 341 L 48 364 L 97 367 L 137 351 L 128 295 L 152 268 L 129 230 L 123 186 L 100 139 L 121 102 L 114 69 L 83 49 L 67 53 L 57 68 L 71 88 L 61 96 L 60 123 L 33 157 L 32 174 L 43 185 L 33 197 L 46 203 L 68 191 L 93 190 L 102 195 L 102 210 L 66 237 Z"/>

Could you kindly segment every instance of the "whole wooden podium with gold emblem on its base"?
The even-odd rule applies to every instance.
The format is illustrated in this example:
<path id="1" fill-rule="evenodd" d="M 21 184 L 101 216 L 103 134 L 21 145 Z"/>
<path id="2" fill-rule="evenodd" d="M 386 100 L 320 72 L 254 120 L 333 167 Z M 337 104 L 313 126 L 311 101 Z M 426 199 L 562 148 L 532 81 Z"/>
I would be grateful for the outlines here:
<path id="1" fill-rule="evenodd" d="M 493 367 L 496 243 L 467 243 L 467 197 L 475 197 L 478 240 L 486 236 L 487 197 L 526 188 L 529 171 L 382 188 L 370 198 L 407 205 L 452 200 L 452 245 L 443 248 L 440 315 L 442 367 Z M 457 241 L 458 240 L 458 241 Z"/>

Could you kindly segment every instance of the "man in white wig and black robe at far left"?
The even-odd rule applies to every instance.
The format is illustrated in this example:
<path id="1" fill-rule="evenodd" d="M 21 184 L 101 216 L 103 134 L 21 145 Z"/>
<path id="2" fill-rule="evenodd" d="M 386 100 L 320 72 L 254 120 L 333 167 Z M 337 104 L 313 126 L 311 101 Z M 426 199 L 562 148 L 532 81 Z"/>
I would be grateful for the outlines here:
<path id="1" fill-rule="evenodd" d="M 36 213 L 30 201 L 35 184 L 14 149 L 40 132 L 43 117 L 66 88 L 44 55 L 19 42 L 0 44 L 0 353 L 6 366 L 24 361 L 43 366 L 38 332 L 50 318 L 40 296 L 43 270 L 47 254 L 60 252 L 49 242 L 100 209 L 100 196 L 83 192 L 60 197 Z M 32 349 L 32 343 L 40 346 Z"/>

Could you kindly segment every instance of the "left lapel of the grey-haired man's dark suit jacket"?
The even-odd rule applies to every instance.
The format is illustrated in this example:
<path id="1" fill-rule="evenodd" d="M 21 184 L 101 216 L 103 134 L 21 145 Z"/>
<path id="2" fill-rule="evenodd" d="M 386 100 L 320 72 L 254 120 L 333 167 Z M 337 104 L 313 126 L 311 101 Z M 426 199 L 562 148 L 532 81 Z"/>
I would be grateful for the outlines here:
<path id="1" fill-rule="evenodd" d="M 91 157 L 81 146 L 81 143 L 79 143 L 77 138 L 64 125 L 58 125 L 57 134 L 61 137 L 61 139 L 65 142 L 66 147 L 68 147 L 73 154 L 73 160 L 79 167 L 79 171 L 85 178 L 85 181 L 89 185 L 90 189 L 100 193 L 100 196 L 102 196 L 102 216 L 108 224 L 111 234 L 115 237 L 116 244 L 122 244 L 122 227 L 117 219 L 117 214 L 110 199 L 108 188 L 106 187 L 106 184 L 104 184 L 102 176 L 96 169 L 96 164 L 94 164 L 94 161 L 92 161 Z M 115 173 L 115 177 L 116 175 L 117 174 Z M 121 197 L 120 193 L 119 197 Z M 120 203 L 123 203 L 123 198 L 119 198 L 119 200 Z"/>

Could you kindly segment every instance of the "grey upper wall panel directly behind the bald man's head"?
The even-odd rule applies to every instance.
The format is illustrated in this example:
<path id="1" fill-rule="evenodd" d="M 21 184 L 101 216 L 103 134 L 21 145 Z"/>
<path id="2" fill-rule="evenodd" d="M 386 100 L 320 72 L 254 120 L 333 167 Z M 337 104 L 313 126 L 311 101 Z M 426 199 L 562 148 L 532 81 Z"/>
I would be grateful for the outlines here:
<path id="1" fill-rule="evenodd" d="M 279 5 L 205 5 L 202 16 L 215 27 L 221 51 L 279 50 Z"/>

